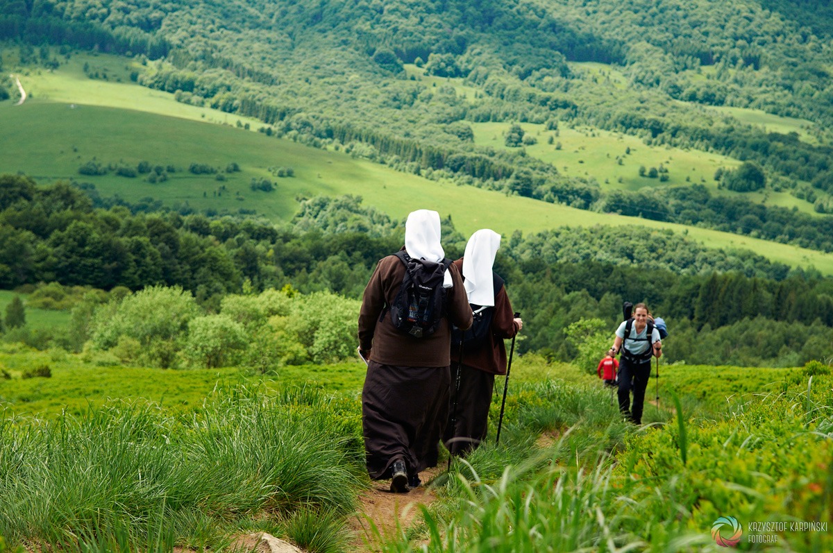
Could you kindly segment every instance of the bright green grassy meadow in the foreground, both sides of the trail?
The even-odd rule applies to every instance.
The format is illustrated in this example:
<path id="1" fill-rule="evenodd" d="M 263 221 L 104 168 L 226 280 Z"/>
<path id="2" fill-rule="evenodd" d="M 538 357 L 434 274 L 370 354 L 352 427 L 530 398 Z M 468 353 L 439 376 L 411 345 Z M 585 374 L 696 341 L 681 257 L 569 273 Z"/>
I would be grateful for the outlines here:
<path id="1" fill-rule="evenodd" d="M 355 516 L 353 498 L 368 486 L 362 364 L 292 367 L 292 376 L 276 378 L 43 356 L 0 353 L 12 373 L 0 380 L 7 408 L 0 421 L 7 450 L 0 451 L 13 469 L 0 471 L 0 490 L 22 493 L 19 504 L 0 505 L 0 528 L 12 543 L 77 536 L 62 549 L 87 551 L 93 540 L 102 551 L 157 539 L 133 517 L 165 534 L 153 551 L 224 551 L 233 536 L 258 529 L 307 551 L 355 551 L 339 521 Z M 21 366 L 42 362 L 52 363 L 52 378 L 18 380 Z M 710 530 L 726 515 L 745 525 L 741 549 L 757 551 L 748 522 L 827 520 L 831 376 L 808 383 L 801 369 L 663 367 L 660 408 L 651 401 L 652 380 L 648 425 L 636 427 L 616 415 L 598 379 L 574 366 L 523 356 L 512 368 L 500 445 L 498 377 L 487 441 L 436 478 L 439 500 L 421 512 L 423 522 L 378 536 L 372 551 L 508 553 L 558 544 L 547 551 L 659 553 L 680 551 L 681 543 L 721 551 Z M 322 396 L 309 384 L 299 391 L 304 381 L 340 382 L 341 392 L 324 388 Z M 18 388 L 28 397 L 10 400 Z M 22 462 L 30 456 L 44 461 Z M 335 481 L 341 496 L 319 489 Z M 296 511 L 310 493 L 322 502 L 312 517 Z M 329 506 L 336 515 L 324 516 L 322 507 L 336 500 Z M 90 528 L 88 512 L 107 524 Z M 311 534 L 325 530 L 332 543 L 317 548 Z M 777 539 L 781 547 L 766 551 L 827 551 L 831 541 L 822 532 L 782 531 Z"/>

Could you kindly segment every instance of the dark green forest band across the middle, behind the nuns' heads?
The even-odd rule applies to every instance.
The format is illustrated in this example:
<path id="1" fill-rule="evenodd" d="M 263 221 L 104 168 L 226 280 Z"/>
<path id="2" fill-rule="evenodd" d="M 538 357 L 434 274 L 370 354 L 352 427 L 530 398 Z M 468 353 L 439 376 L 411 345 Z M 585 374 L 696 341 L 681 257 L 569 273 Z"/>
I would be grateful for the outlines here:
<path id="1" fill-rule="evenodd" d="M 287 286 L 358 299 L 376 262 L 401 247 L 404 232 L 402 221 L 363 207 L 358 197 L 307 199 L 281 226 L 131 207 L 94 207 L 77 187 L 0 177 L 0 288 L 57 282 L 129 293 L 179 286 L 208 312 L 220 311 L 230 294 Z M 446 255 L 459 257 L 467 237 L 447 218 L 442 225 Z M 751 252 L 707 250 L 671 232 L 516 232 L 501 244 L 496 271 L 528 323 L 520 351 L 553 359 L 575 355 L 566 336 L 572 322 L 596 318 L 612 331 L 626 299 L 647 301 L 669 321 L 676 344 L 670 361 L 796 365 L 829 355 L 833 342 L 833 279 Z M 25 331 L 12 338 L 48 342 Z"/>

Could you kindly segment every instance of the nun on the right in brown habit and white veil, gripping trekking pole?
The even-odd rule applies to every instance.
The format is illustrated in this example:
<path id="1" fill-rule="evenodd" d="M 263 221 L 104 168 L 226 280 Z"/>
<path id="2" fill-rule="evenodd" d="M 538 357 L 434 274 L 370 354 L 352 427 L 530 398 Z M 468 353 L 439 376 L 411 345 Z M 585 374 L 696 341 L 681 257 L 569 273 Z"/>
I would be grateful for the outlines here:
<path id="1" fill-rule="evenodd" d="M 451 266 L 462 272 L 469 303 L 494 308 L 488 336 L 476 346 L 464 348 L 462 365 L 459 349 L 452 348 L 451 351 L 451 382 L 456 381 L 456 371 L 461 371 L 460 393 L 456 398 L 456 413 L 450 413 L 443 440 L 454 455 L 465 455 L 486 439 L 495 375 L 506 374 L 503 341 L 515 336 L 523 327 L 523 321 L 512 313 L 503 280 L 496 277 L 491 268 L 499 247 L 501 235 L 487 228 L 481 229 L 471 235 L 465 254 Z M 452 384 L 452 401 L 454 393 Z"/>

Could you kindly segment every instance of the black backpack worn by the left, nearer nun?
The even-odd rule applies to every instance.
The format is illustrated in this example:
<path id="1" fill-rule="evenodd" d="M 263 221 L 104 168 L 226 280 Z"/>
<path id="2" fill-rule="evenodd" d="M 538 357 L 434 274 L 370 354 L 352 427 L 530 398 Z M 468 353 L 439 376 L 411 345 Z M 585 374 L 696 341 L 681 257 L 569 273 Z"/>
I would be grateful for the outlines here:
<path id="1" fill-rule="evenodd" d="M 405 277 L 389 306 L 393 326 L 415 338 L 431 336 L 446 315 L 446 289 L 442 281 L 451 260 L 446 257 L 434 263 L 412 259 L 407 252 L 394 255 L 405 265 Z"/>

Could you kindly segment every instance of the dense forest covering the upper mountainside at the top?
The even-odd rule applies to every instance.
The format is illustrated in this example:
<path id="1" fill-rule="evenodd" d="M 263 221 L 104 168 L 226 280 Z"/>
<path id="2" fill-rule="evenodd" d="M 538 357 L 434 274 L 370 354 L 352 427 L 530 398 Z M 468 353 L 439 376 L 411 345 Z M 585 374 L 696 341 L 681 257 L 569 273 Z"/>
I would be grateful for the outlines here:
<path id="1" fill-rule="evenodd" d="M 341 146 L 402 171 L 547 202 L 713 227 L 833 251 L 830 217 L 696 185 L 601 193 L 592 179 L 471 142 L 471 122 L 586 124 L 756 167 L 727 190 L 772 187 L 833 209 L 830 7 L 816 2 L 57 2 L 2 0 L 0 38 L 138 56 L 133 77 L 182 102 L 248 115 L 263 131 Z M 38 61 L 50 64 L 49 52 Z M 571 62 L 607 64 L 599 74 Z M 461 79 L 460 97 L 426 76 Z M 620 72 L 626 86 L 614 82 Z M 707 106 L 814 122 L 812 140 Z M 671 196 L 671 201 L 669 197 Z M 707 208 L 701 210 L 706 202 Z"/>

